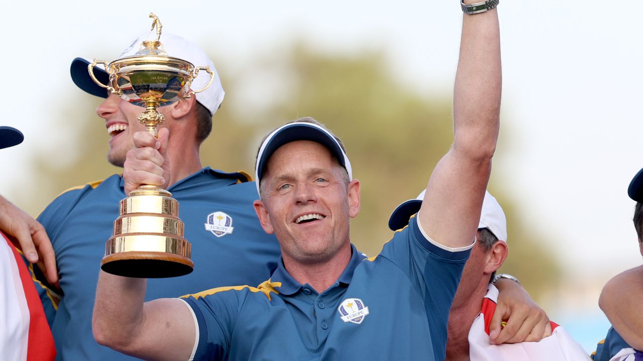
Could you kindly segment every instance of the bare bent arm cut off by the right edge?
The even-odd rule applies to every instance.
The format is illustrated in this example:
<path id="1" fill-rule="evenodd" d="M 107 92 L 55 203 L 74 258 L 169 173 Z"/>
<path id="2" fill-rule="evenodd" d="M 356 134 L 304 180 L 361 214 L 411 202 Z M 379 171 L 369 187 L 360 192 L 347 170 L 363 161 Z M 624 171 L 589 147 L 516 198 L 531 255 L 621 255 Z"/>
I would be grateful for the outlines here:
<path id="1" fill-rule="evenodd" d="M 626 270 L 606 283 L 599 306 L 629 346 L 643 350 L 643 266 Z"/>

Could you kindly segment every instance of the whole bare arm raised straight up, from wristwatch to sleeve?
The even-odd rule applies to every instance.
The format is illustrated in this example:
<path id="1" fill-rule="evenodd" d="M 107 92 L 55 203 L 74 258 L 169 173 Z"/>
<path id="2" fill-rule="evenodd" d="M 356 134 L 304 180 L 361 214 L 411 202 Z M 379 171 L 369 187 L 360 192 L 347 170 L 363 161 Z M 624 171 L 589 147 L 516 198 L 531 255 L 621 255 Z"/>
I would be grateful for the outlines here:
<path id="1" fill-rule="evenodd" d="M 475 238 L 500 123 L 497 10 L 463 16 L 453 100 L 455 136 L 433 170 L 419 215 L 428 236 L 447 247 L 465 247 Z"/>

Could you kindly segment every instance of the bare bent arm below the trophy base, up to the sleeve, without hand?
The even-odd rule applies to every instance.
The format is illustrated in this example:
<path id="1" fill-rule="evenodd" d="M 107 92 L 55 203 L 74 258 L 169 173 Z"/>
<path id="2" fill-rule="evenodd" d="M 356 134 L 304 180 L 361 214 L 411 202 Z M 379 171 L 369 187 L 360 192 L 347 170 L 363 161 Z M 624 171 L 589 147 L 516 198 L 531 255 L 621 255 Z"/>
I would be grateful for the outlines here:
<path id="1" fill-rule="evenodd" d="M 146 279 L 100 271 L 92 330 L 96 342 L 145 360 L 188 360 L 196 339 L 189 306 L 179 299 L 143 303 Z"/>

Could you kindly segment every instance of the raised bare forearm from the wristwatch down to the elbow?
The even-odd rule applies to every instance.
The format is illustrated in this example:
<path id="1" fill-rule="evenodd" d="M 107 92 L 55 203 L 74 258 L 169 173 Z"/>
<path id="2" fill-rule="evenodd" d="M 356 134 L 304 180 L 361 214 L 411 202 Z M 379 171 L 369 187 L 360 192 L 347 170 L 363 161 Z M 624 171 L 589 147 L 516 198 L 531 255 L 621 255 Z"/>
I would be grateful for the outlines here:
<path id="1" fill-rule="evenodd" d="M 498 12 L 492 9 L 473 15 L 465 13 L 453 94 L 453 145 L 457 150 L 475 157 L 493 155 L 500 126 L 501 92 Z"/>

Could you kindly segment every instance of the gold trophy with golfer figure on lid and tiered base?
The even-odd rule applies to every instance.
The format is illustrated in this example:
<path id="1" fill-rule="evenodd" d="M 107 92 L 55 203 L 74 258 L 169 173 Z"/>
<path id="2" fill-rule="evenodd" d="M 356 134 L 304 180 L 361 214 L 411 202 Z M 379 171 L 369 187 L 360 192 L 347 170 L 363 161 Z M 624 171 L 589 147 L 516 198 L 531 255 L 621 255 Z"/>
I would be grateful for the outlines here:
<path id="1" fill-rule="evenodd" d="M 161 22 L 150 13 L 156 40 L 144 40 L 131 57 L 107 64 L 94 60 L 87 69 L 101 87 L 121 96 L 134 105 L 145 107 L 138 121 L 147 132 L 158 136 L 156 127 L 165 120 L 156 108 L 189 98 L 207 89 L 214 78 L 207 66 L 195 67 L 190 62 L 165 53 L 161 38 Z M 94 74 L 98 64 L 105 66 L 109 84 L 102 84 Z M 210 75 L 208 84 L 190 90 L 199 70 Z M 120 216 L 114 221 L 114 234 L 107 241 L 101 268 L 105 272 L 128 277 L 176 277 L 192 272 L 190 243 L 183 238 L 183 222 L 179 219 L 179 203 L 172 194 L 157 186 L 140 186 L 120 201 Z"/>

